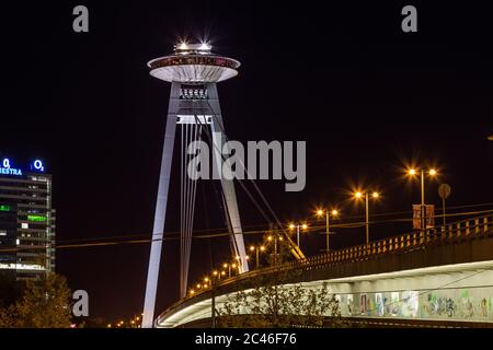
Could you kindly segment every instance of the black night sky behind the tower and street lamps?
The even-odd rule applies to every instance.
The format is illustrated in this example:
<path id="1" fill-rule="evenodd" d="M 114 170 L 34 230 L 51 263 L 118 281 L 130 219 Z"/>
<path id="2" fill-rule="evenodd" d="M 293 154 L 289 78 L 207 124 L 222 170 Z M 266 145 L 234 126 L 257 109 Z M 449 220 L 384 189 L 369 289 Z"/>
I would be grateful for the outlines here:
<path id="1" fill-rule="evenodd" d="M 412 34 L 400 28 L 408 2 L 127 2 L 2 4 L 0 151 L 45 160 L 59 243 L 150 237 L 170 85 L 150 78 L 146 62 L 177 37 L 207 37 L 242 62 L 218 88 L 231 139 L 307 141 L 302 192 L 261 183 L 282 220 L 307 218 L 319 202 L 362 214 L 345 203 L 352 183 L 382 191 L 374 211 L 410 210 L 417 184 L 399 176 L 411 160 L 439 167 L 450 206 L 493 201 L 493 27 L 483 2 L 416 4 Z M 77 4 L 89 8 L 90 33 L 72 32 Z M 174 176 L 174 195 L 177 184 Z M 437 184 L 427 186 L 436 205 Z M 243 223 L 265 225 L 238 191 Z M 196 229 L 223 228 L 214 186 L 198 192 Z M 176 231 L 177 195 L 169 206 L 165 231 Z M 334 247 L 363 240 L 363 229 L 337 233 Z M 323 242 L 306 240 L 313 252 Z M 164 248 L 158 311 L 177 298 L 177 250 L 175 242 Z M 194 241 L 192 277 L 228 252 L 226 241 Z M 146 244 L 60 249 L 57 269 L 89 292 L 92 315 L 112 319 L 140 312 L 148 254 Z"/>

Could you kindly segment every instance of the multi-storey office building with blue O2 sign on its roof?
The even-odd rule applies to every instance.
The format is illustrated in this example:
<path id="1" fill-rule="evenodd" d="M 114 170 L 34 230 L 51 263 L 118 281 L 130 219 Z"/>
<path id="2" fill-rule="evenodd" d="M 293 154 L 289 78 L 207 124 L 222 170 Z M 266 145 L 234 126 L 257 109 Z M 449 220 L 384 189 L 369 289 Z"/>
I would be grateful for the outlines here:
<path id="1" fill-rule="evenodd" d="M 16 280 L 55 270 L 55 210 L 51 176 L 43 161 L 0 163 L 0 271 Z"/>

